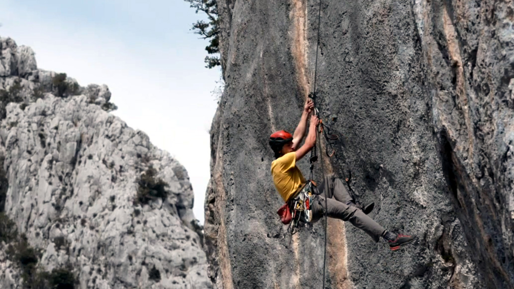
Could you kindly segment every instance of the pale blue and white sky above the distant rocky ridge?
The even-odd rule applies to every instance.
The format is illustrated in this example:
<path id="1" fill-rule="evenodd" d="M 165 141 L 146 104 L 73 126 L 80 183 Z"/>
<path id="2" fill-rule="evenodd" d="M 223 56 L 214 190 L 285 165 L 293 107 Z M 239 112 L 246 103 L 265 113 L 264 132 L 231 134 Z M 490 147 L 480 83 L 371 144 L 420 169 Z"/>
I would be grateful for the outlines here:
<path id="1" fill-rule="evenodd" d="M 32 47 L 39 68 L 107 84 L 114 114 L 186 167 L 203 224 L 221 70 L 205 68 L 200 17 L 181 0 L 0 0 L 1 37 Z"/>

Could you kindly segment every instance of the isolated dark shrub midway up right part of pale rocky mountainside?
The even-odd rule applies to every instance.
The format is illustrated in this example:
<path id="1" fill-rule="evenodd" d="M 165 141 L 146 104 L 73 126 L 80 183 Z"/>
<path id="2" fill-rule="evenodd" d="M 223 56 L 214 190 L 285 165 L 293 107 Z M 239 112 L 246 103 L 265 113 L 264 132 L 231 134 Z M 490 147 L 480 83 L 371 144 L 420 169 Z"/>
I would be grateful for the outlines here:
<path id="1" fill-rule="evenodd" d="M 166 199 L 168 192 L 165 187 L 168 183 L 162 179 L 156 179 L 157 171 L 150 166 L 138 180 L 137 195 L 134 199 L 134 205 L 148 204 L 154 198 L 160 197 L 163 201 Z"/>

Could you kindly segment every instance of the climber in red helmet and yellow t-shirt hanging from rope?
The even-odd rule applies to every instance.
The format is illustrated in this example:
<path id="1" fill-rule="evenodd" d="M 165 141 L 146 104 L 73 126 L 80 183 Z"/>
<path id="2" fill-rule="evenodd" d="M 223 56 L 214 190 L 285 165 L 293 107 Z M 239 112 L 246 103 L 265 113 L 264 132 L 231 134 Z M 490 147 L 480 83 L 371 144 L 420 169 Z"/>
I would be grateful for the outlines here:
<path id="1" fill-rule="evenodd" d="M 276 158 L 271 162 L 273 183 L 290 210 L 294 209 L 292 204 L 295 200 L 298 200 L 299 193 L 304 191 L 302 188 L 305 188 L 308 183 L 300 169 L 296 166 L 296 163 L 313 149 L 316 144 L 316 130 L 319 125 L 319 118 L 317 115 L 310 116 L 313 110 L 314 102 L 308 98 L 304 104 L 300 122 L 293 135 L 286 131 L 278 131 L 271 134 L 269 139 L 269 145 Z M 309 132 L 304 145 L 299 147 L 307 129 L 309 116 Z M 307 219 L 310 219 L 310 222 L 316 222 L 324 215 L 326 197 L 326 213 L 329 218 L 349 221 L 355 227 L 368 233 L 375 242 L 378 242 L 380 237 L 382 237 L 389 242 L 391 250 L 397 250 L 400 246 L 414 240 L 412 236 L 390 232 L 371 219 L 367 215 L 370 211 L 369 206 L 362 208 L 357 205 L 355 200 L 348 194 L 340 178 L 334 175 L 325 176 L 319 187 L 312 186 L 311 188 L 314 191 L 313 200 L 311 200 L 310 204 L 307 203 L 311 214 L 311 218 Z"/>

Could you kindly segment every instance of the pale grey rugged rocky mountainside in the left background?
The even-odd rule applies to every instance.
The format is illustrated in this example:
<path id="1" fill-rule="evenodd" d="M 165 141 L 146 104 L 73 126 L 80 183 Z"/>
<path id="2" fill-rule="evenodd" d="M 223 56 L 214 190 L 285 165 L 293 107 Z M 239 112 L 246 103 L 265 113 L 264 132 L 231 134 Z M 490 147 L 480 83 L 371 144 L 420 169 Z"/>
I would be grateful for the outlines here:
<path id="1" fill-rule="evenodd" d="M 76 288 L 212 287 L 186 170 L 102 110 L 107 86 L 68 78 L 67 95 L 55 73 L 36 67 L 30 48 L 4 38 L 0 47 L 3 96 L 21 103 L 7 104 L 0 123 L 0 212 L 41 251 L 33 275 L 66 267 Z M 168 186 L 135 202 L 150 167 Z M 35 288 L 22 280 L 26 263 L 9 257 L 12 244 L 0 242 L 0 287 Z"/>

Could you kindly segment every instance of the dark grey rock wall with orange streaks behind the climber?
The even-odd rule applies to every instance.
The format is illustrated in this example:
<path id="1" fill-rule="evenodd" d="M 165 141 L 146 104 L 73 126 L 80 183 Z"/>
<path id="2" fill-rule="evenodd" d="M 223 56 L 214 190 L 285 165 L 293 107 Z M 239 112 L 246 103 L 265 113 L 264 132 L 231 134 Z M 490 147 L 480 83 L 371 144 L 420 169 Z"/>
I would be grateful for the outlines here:
<path id="1" fill-rule="evenodd" d="M 217 4 L 226 87 L 211 130 L 210 278 L 320 287 L 323 221 L 290 240 L 267 145 L 295 129 L 314 89 L 319 2 Z M 416 236 L 391 252 L 329 221 L 328 287 L 514 288 L 514 3 L 322 0 L 318 57 L 317 105 L 339 140 L 317 177 L 351 172 L 378 223 Z"/>

